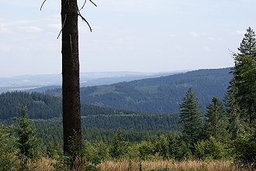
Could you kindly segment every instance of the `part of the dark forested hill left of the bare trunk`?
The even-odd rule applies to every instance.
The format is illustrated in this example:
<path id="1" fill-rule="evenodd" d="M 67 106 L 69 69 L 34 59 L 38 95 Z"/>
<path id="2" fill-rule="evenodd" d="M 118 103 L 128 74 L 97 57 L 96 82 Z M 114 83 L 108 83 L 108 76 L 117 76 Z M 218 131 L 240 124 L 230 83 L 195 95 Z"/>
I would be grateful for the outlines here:
<path id="1" fill-rule="evenodd" d="M 61 117 L 60 97 L 16 91 L 0 94 L 0 119 L 18 117 L 24 104 L 29 109 L 29 118 Z"/>

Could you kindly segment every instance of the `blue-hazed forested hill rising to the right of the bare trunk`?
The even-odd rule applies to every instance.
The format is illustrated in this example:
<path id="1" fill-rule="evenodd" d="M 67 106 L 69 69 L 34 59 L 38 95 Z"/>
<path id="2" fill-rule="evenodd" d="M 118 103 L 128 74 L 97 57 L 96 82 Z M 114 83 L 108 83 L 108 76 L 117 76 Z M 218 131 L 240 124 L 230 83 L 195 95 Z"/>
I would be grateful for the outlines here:
<path id="1" fill-rule="evenodd" d="M 177 112 L 192 87 L 205 110 L 213 96 L 223 98 L 230 68 L 195 70 L 185 74 L 81 88 L 81 102 L 134 111 Z"/>

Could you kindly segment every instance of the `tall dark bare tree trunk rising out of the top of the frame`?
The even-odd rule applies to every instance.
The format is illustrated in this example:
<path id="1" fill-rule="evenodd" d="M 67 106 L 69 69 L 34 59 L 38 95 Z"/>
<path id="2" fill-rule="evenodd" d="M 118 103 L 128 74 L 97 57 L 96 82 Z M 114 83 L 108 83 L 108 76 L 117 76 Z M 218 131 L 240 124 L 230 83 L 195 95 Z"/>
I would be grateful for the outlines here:
<path id="1" fill-rule="evenodd" d="M 64 155 L 81 151 L 77 0 L 61 0 Z"/>

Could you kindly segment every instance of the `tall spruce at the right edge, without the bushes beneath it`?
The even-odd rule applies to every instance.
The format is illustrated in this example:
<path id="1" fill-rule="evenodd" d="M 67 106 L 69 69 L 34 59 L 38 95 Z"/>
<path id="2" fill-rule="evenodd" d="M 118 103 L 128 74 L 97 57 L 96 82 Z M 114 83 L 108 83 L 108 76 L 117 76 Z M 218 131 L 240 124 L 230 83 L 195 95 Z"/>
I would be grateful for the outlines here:
<path id="1" fill-rule="evenodd" d="M 234 53 L 235 67 L 231 71 L 234 77 L 230 81 L 229 98 L 233 105 L 238 106 L 240 115 L 251 126 L 256 118 L 256 39 L 251 27 L 244 34 L 238 50 L 239 53 Z"/>

